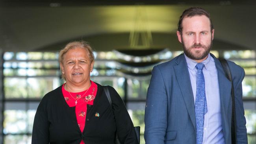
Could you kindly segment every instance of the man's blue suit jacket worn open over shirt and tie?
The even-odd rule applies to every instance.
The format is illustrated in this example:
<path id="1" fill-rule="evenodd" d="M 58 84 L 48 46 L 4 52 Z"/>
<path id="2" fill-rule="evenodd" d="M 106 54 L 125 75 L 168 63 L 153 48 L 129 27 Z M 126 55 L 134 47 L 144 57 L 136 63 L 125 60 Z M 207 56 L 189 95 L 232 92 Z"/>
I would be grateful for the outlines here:
<path id="1" fill-rule="evenodd" d="M 221 120 L 225 144 L 231 144 L 231 82 L 220 61 L 215 60 L 219 79 Z M 237 144 L 247 144 L 242 102 L 243 68 L 228 61 L 234 82 Z M 146 144 L 196 144 L 195 104 L 184 54 L 154 66 L 145 107 Z"/>

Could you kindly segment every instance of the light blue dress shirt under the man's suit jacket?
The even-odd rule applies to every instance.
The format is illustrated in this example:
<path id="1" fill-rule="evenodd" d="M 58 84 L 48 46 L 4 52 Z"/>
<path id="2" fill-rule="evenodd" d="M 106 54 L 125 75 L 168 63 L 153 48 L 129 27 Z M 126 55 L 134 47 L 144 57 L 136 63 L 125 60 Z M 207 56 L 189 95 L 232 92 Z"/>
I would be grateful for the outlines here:
<path id="1" fill-rule="evenodd" d="M 197 91 L 197 62 L 185 55 L 191 86 L 193 90 L 194 102 Z M 219 95 L 219 81 L 217 68 L 213 57 L 208 54 L 204 63 L 203 74 L 205 79 L 205 95 L 208 112 L 204 115 L 203 144 L 224 144 L 224 134 L 221 124 L 221 104 Z"/>

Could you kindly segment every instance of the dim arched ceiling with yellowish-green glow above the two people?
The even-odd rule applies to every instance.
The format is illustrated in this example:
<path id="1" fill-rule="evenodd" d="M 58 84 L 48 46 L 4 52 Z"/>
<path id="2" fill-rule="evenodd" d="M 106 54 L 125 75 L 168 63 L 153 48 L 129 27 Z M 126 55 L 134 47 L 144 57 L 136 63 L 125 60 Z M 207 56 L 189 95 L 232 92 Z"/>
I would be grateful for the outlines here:
<path id="1" fill-rule="evenodd" d="M 129 34 L 134 30 L 152 33 L 150 48 L 182 50 L 176 38 L 178 18 L 191 6 L 210 12 L 215 27 L 214 49 L 256 49 L 255 2 L 158 5 L 11 2 L 0 6 L 0 48 L 4 51 L 56 51 L 74 40 L 89 41 L 97 51 L 129 49 Z"/>

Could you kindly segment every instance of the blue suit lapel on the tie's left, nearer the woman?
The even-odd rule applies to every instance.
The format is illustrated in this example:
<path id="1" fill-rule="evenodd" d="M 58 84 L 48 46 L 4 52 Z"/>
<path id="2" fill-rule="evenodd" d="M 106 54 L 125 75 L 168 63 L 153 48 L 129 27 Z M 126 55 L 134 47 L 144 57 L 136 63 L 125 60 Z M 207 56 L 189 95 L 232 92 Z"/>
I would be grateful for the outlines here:
<path id="1" fill-rule="evenodd" d="M 191 87 L 189 72 L 187 69 L 187 62 L 184 54 L 180 55 L 177 58 L 176 63 L 177 65 L 174 66 L 176 78 L 180 86 L 180 90 L 182 92 L 184 102 L 187 107 L 187 112 L 189 113 L 189 117 L 193 123 L 194 129 L 196 130 L 195 103 L 194 103 L 194 97 L 193 97 L 193 90 Z"/>

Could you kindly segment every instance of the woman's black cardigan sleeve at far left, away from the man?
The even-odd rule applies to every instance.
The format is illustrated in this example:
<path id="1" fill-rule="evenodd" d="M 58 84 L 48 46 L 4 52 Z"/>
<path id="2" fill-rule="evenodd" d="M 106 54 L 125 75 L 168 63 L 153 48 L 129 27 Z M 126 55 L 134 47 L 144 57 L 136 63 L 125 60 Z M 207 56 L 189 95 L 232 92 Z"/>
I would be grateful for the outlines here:
<path id="1" fill-rule="evenodd" d="M 32 131 L 32 144 L 48 144 L 49 142 L 49 122 L 46 114 L 45 99 L 40 102 L 37 112 L 35 113 L 35 119 Z"/>

